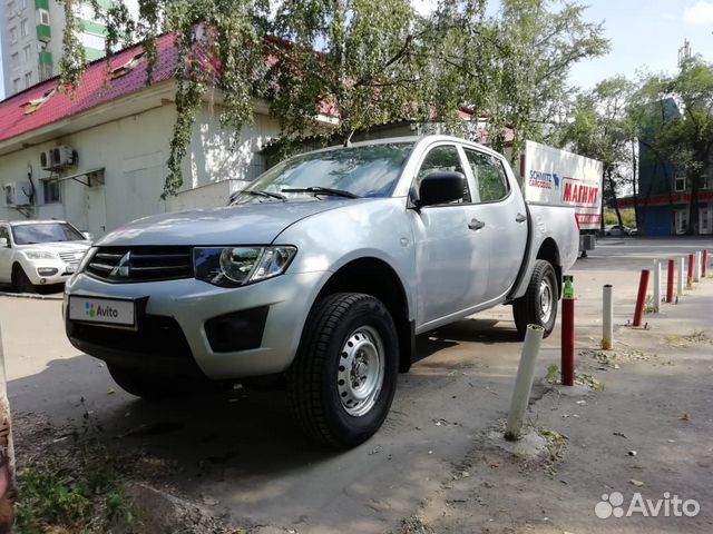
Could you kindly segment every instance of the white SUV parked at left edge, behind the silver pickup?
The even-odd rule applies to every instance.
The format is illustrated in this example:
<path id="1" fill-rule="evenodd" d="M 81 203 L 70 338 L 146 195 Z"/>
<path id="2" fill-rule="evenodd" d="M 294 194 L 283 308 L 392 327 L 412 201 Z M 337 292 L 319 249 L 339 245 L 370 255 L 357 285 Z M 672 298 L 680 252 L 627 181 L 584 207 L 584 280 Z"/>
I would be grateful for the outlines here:
<path id="1" fill-rule="evenodd" d="M 0 222 L 0 283 L 21 293 L 62 284 L 77 270 L 90 238 L 64 220 Z"/>

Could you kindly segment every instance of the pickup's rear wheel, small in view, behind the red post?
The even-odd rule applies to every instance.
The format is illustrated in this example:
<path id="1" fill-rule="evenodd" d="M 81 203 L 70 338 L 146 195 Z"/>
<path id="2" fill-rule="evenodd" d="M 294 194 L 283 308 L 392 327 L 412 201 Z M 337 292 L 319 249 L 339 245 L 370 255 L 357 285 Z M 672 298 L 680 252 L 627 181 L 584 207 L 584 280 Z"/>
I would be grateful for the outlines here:
<path id="1" fill-rule="evenodd" d="M 545 286 L 547 289 L 545 289 Z M 549 308 L 544 309 L 541 291 L 549 291 Z M 551 264 L 544 259 L 535 260 L 533 277 L 525 295 L 512 303 L 515 326 L 521 339 L 525 339 L 527 325 L 545 328 L 544 337 L 551 334 L 557 322 L 557 301 L 559 297 L 557 275 Z"/>

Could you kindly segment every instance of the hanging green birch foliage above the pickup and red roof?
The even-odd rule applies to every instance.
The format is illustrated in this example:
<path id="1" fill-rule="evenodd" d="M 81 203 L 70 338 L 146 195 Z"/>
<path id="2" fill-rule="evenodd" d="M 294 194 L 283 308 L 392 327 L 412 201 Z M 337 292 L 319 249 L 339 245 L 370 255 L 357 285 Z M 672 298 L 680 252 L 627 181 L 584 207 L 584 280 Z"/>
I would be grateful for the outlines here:
<path id="1" fill-rule="evenodd" d="M 77 87 L 86 61 L 77 36 L 76 0 L 67 11 L 62 83 Z M 525 139 L 541 140 L 559 119 L 570 67 L 604 53 L 602 24 L 585 7 L 557 0 L 504 0 L 486 17 L 485 0 L 440 0 L 423 18 L 410 0 L 139 0 L 137 20 L 123 2 L 101 9 L 107 61 L 141 43 L 148 77 L 157 37 L 175 32 L 177 118 L 164 197 L 183 186 L 183 159 L 204 100 L 219 98 L 221 123 L 238 140 L 255 98 L 270 102 L 286 141 L 338 136 L 393 120 L 438 120 L 472 134 L 462 107 L 487 117 L 489 140 L 502 150 L 515 129 L 514 158 Z M 214 91 L 213 89 L 217 89 Z M 331 126 L 315 119 L 330 116 Z"/>

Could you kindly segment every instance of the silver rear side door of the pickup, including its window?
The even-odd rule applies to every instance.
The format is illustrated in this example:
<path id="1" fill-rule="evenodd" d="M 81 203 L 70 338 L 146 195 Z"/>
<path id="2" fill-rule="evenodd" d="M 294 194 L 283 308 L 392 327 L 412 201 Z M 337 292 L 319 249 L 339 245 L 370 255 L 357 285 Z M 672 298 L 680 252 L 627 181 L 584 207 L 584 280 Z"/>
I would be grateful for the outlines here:
<path id="1" fill-rule="evenodd" d="M 487 152 L 463 147 L 475 182 L 473 214 L 487 240 L 489 269 L 482 301 L 506 294 L 520 269 L 527 245 L 527 211 L 519 191 L 511 190 L 502 161 Z"/>

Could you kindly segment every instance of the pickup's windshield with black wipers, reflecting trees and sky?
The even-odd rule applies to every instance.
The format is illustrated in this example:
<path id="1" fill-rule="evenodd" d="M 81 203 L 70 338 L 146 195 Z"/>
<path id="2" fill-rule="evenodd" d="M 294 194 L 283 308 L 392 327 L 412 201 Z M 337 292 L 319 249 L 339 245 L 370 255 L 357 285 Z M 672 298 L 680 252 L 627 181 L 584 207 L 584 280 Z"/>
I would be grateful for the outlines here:
<path id="1" fill-rule="evenodd" d="M 346 197 L 344 192 L 358 197 L 388 197 L 412 148 L 413 142 L 394 142 L 295 156 L 264 172 L 232 204 L 304 200 L 305 197 L 328 195 L 329 191 L 319 191 L 320 188 L 341 192 L 331 198 Z M 306 188 L 311 190 L 290 190 Z"/>

